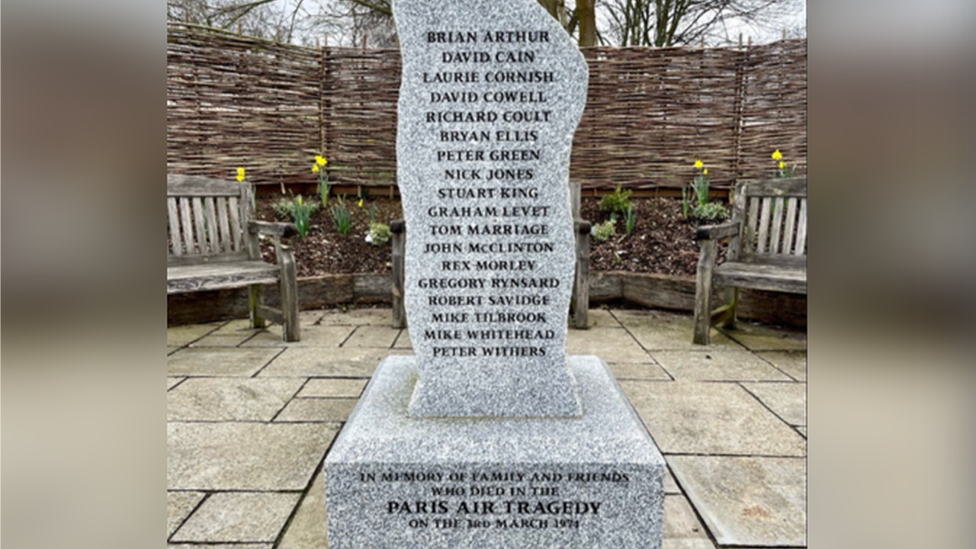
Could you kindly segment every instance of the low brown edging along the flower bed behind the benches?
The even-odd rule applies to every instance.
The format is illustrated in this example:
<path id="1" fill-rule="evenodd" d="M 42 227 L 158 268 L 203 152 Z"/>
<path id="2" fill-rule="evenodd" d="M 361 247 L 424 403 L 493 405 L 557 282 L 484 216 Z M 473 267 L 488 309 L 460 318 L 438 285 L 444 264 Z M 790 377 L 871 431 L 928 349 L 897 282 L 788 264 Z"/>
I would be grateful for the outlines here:
<path id="1" fill-rule="evenodd" d="M 335 274 L 298 279 L 301 309 L 320 309 L 341 303 L 390 303 L 392 279 L 387 274 Z M 721 296 L 721 292 L 714 292 Z M 265 299 L 278 306 L 278 288 L 267 285 Z M 695 303 L 695 278 L 623 271 L 590 273 L 590 304 L 624 299 L 648 308 L 691 312 Z M 715 306 L 718 305 L 716 301 Z M 247 317 L 247 288 L 169 295 L 169 326 Z M 805 295 L 740 290 L 739 317 L 782 326 L 807 325 Z"/>

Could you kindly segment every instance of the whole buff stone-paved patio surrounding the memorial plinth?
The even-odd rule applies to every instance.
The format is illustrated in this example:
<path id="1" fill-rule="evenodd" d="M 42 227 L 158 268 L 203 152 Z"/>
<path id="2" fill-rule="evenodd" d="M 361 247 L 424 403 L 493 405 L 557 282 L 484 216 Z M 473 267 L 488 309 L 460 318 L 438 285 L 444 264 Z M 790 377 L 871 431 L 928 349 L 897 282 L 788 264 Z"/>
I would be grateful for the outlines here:
<path id="1" fill-rule="evenodd" d="M 323 549 L 322 460 L 383 357 L 389 309 L 303 311 L 302 341 L 246 320 L 167 330 L 168 547 Z M 668 462 L 664 549 L 806 547 L 806 335 L 592 310 L 568 352 L 613 370 Z M 246 545 L 245 545 L 246 544 Z"/>

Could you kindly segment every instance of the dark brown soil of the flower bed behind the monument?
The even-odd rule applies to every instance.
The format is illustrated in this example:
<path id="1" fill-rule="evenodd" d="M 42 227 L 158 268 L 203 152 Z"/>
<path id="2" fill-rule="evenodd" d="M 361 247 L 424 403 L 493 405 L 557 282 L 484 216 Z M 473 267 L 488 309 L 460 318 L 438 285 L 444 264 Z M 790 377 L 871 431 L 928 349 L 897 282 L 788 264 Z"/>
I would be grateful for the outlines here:
<path id="1" fill-rule="evenodd" d="M 311 197 L 310 197 L 311 199 Z M 258 218 L 266 221 L 285 221 L 276 216 L 273 204 L 278 198 L 258 200 Z M 336 203 L 329 200 L 329 206 Z M 590 269 L 600 271 L 630 271 L 667 275 L 694 275 L 698 261 L 695 229 L 681 215 L 681 201 L 672 198 L 631 199 L 637 221 L 631 234 L 626 234 L 624 220 L 616 222 L 616 234 L 605 242 L 591 245 Z M 386 273 L 390 270 L 390 244 L 374 246 L 366 242 L 369 229 L 370 204 L 375 204 L 375 219 L 389 224 L 402 218 L 400 201 L 376 198 L 358 206 L 355 200 L 345 201 L 352 214 L 353 227 L 348 235 L 336 231 L 330 213 L 319 208 L 312 214 L 311 229 L 304 239 L 293 238 L 298 276 L 324 274 Z M 584 198 L 581 215 L 594 224 L 610 215 L 601 211 L 599 200 Z M 262 252 L 265 259 L 274 260 L 270 243 Z"/>

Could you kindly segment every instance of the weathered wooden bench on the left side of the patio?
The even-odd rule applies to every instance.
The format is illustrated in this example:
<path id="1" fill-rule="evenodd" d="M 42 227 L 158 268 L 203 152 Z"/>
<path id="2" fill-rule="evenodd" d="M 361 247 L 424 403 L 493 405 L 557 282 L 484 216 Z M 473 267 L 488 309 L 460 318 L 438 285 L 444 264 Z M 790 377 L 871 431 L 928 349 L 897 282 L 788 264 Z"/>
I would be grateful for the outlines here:
<path id="1" fill-rule="evenodd" d="M 166 293 L 249 288 L 251 327 L 267 320 L 283 327 L 285 341 L 298 341 L 298 286 L 294 253 L 281 243 L 296 234 L 291 223 L 254 220 L 251 185 L 207 177 L 168 175 L 169 235 Z M 273 237 L 278 264 L 261 259 L 258 234 Z M 281 308 L 263 302 L 261 285 L 280 283 Z"/>

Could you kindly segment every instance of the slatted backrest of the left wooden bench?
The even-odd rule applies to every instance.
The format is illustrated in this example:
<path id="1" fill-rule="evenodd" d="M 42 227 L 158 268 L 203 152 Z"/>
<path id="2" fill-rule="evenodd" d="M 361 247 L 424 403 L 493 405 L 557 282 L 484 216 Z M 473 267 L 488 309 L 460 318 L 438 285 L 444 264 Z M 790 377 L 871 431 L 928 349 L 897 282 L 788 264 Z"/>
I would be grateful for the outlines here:
<path id="1" fill-rule="evenodd" d="M 166 194 L 170 264 L 260 257 L 246 230 L 253 217 L 249 184 L 168 175 Z"/>

